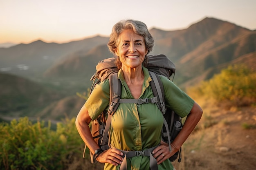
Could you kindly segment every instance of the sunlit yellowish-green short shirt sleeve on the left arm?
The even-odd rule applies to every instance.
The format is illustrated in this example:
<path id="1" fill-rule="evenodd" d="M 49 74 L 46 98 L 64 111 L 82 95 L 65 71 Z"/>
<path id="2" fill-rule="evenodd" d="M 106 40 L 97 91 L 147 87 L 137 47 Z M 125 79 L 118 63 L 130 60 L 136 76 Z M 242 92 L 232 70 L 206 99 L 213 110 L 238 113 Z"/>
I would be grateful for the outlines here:
<path id="1" fill-rule="evenodd" d="M 89 98 L 85 102 L 85 107 L 88 109 L 89 115 L 92 119 L 96 119 L 103 110 L 109 105 L 109 80 L 97 84 Z"/>

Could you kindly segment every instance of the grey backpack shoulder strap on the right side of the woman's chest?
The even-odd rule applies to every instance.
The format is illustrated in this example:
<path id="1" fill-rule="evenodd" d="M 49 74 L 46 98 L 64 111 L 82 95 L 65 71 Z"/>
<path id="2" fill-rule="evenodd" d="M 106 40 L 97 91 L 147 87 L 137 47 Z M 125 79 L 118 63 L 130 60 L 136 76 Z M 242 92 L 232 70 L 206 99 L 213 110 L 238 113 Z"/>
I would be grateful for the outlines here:
<path id="1" fill-rule="evenodd" d="M 165 104 L 164 104 L 164 86 L 162 84 L 160 77 L 158 75 L 156 75 L 156 73 L 149 71 L 149 74 L 153 80 L 150 82 L 150 86 L 152 88 L 153 94 L 154 94 L 154 96 L 158 96 L 158 98 L 159 98 L 159 102 L 158 102 L 157 106 L 159 107 L 159 109 L 162 111 L 162 113 L 164 115 L 165 111 L 166 111 Z M 163 118 L 164 118 L 164 116 L 163 116 Z M 169 132 L 168 123 L 165 118 L 164 118 L 164 126 L 166 129 L 166 132 Z M 169 133 L 167 133 L 167 138 L 168 138 L 169 150 L 171 152 L 171 137 L 170 137 Z"/>

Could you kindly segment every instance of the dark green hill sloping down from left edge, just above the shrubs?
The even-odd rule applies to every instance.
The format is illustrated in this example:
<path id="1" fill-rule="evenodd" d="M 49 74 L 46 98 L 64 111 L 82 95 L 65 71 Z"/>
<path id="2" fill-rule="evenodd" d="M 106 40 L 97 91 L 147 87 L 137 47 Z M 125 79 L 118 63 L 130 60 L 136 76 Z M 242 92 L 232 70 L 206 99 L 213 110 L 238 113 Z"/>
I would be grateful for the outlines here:
<path id="1" fill-rule="evenodd" d="M 33 115 L 63 95 L 28 79 L 0 73 L 0 116 Z"/>

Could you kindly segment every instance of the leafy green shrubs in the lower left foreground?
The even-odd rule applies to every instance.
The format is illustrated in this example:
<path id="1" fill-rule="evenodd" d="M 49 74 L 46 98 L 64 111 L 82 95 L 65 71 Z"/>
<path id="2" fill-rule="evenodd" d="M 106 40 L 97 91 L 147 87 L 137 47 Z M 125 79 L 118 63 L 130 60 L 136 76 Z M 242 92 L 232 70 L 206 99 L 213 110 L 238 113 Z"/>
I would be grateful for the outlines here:
<path id="1" fill-rule="evenodd" d="M 58 123 L 56 131 L 51 123 L 32 124 L 27 117 L 10 124 L 0 124 L 0 169 L 5 170 L 64 170 L 77 154 L 81 157 L 83 141 L 75 119 Z"/>

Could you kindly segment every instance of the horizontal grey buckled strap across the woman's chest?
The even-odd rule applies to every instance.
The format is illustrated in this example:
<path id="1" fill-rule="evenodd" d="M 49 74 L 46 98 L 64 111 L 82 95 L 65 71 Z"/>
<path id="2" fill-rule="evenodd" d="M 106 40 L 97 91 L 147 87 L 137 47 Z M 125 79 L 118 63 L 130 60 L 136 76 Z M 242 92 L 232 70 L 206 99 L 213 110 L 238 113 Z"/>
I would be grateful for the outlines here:
<path id="1" fill-rule="evenodd" d="M 136 104 L 155 104 L 158 102 L 158 97 L 153 97 L 153 98 L 145 98 L 145 99 L 112 99 L 112 102 L 114 103 L 136 103 Z"/>

